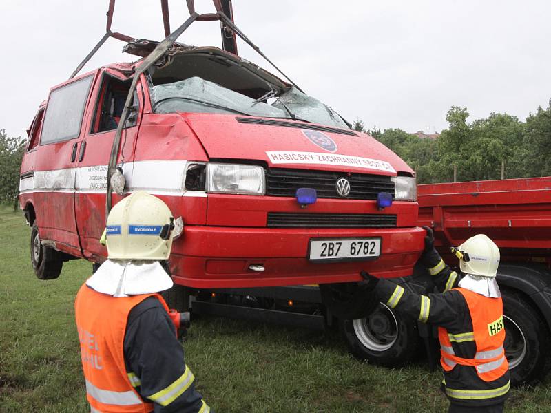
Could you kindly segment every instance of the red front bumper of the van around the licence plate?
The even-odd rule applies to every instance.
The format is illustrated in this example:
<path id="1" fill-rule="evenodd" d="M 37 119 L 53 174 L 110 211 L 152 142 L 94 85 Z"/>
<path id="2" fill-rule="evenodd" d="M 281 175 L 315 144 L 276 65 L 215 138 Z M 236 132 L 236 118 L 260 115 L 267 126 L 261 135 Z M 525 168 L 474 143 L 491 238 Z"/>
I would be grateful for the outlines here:
<path id="1" fill-rule="evenodd" d="M 311 238 L 380 237 L 381 254 L 365 261 L 311 262 Z M 419 227 L 391 229 L 267 229 L 186 226 L 174 242 L 171 268 L 177 284 L 194 288 L 245 288 L 360 281 L 412 275 L 424 249 Z M 264 268 L 255 271 L 253 268 Z"/>

